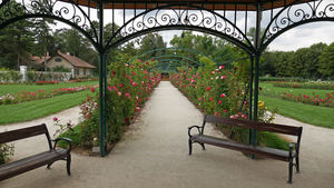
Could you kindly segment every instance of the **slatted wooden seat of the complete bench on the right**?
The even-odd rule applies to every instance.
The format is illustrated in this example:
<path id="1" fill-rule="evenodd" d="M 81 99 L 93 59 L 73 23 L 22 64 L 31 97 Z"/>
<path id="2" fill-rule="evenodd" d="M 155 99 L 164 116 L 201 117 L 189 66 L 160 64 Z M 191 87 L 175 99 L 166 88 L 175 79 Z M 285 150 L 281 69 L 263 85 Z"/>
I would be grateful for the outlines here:
<path id="1" fill-rule="evenodd" d="M 204 135 L 194 135 L 190 138 L 190 140 L 196 141 L 196 142 L 203 142 L 203 144 L 208 144 L 208 145 L 213 145 L 213 146 L 229 148 L 229 149 L 238 150 L 238 151 L 246 152 L 246 154 L 253 154 L 253 155 L 257 155 L 257 156 L 274 158 L 277 160 L 288 161 L 288 151 L 284 151 L 284 150 L 279 150 L 279 149 L 259 147 L 259 146 L 256 146 L 256 147 L 247 146 L 247 145 L 234 142 L 234 141 L 230 141 L 227 139 L 216 138 L 216 137 L 212 137 L 212 136 L 204 136 Z M 293 152 L 293 157 L 294 156 L 295 156 L 295 154 Z"/>

